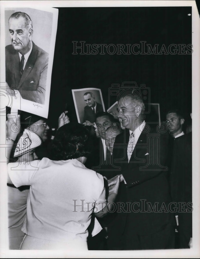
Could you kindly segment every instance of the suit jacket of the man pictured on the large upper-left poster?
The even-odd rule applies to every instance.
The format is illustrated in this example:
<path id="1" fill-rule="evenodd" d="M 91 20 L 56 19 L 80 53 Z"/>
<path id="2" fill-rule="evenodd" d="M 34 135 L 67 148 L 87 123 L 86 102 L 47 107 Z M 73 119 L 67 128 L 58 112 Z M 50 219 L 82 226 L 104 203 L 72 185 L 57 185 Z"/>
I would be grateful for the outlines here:
<path id="1" fill-rule="evenodd" d="M 49 54 L 32 44 L 22 76 L 19 52 L 12 45 L 5 47 L 6 82 L 10 88 L 16 85 L 23 99 L 44 104 Z"/>

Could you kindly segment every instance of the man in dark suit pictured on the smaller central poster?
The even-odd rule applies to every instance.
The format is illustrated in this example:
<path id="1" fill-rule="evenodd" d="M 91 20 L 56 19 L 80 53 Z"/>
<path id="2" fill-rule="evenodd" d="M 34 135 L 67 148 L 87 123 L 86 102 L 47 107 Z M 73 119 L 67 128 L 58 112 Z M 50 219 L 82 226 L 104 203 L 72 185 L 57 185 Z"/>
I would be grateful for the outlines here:
<path id="1" fill-rule="evenodd" d="M 92 92 L 84 93 L 83 98 L 87 104 L 84 107 L 83 125 L 92 126 L 95 122 L 96 114 L 103 111 L 103 106 L 95 101 L 95 96 Z"/>

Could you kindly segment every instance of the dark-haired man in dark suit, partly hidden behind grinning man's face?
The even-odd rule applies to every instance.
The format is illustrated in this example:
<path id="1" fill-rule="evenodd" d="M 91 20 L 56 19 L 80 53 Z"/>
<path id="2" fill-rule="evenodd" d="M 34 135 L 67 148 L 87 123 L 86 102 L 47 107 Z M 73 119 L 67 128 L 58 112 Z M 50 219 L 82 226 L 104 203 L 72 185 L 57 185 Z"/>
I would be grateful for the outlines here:
<path id="1" fill-rule="evenodd" d="M 85 166 L 105 176 L 107 179 L 110 179 L 116 175 L 116 168 L 113 167 L 112 163 L 112 151 L 110 149 L 111 142 L 109 141 L 109 139 L 112 137 L 112 134 L 119 134 L 119 132 L 121 132 L 120 124 L 119 121 L 116 120 L 112 114 L 101 111 L 96 114 L 95 127 L 97 137 L 93 139 L 93 150 L 91 152 L 91 155 L 88 156 Z M 106 132 L 107 140 L 105 139 Z M 104 228 L 107 227 L 110 221 L 112 221 L 112 218 L 109 216 L 109 218 L 105 217 L 103 219 L 98 219 L 98 221 Z M 106 250 L 106 236 L 107 232 L 105 231 L 105 229 L 103 229 L 94 238 L 91 238 L 89 236 L 88 249 Z"/>

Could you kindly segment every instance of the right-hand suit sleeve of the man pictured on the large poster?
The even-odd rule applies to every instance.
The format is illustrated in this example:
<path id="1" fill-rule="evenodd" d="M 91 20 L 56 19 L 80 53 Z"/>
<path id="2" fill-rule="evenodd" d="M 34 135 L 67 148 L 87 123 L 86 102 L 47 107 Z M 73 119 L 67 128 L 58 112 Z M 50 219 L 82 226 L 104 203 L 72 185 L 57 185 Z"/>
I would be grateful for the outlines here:
<path id="1" fill-rule="evenodd" d="M 42 59 L 42 57 L 41 57 Z M 37 85 L 37 89 L 35 91 L 27 91 L 21 89 L 21 96 L 24 99 L 27 99 L 29 96 L 29 100 L 36 103 L 44 104 L 45 101 L 45 92 L 46 92 L 46 79 L 47 79 L 47 68 L 48 68 L 48 55 L 43 55 L 43 63 L 41 65 L 39 81 Z"/>

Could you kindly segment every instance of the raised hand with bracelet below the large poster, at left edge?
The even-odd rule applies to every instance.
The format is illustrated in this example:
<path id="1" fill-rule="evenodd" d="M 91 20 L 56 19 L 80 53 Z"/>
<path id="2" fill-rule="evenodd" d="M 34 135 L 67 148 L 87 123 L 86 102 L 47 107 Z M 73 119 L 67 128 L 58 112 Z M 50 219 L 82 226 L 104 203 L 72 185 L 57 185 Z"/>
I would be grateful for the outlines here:
<path id="1" fill-rule="evenodd" d="M 6 137 L 12 140 L 16 140 L 17 135 L 20 132 L 20 115 L 17 115 L 16 122 L 13 120 L 10 113 L 8 113 L 8 119 L 6 120 Z"/>

